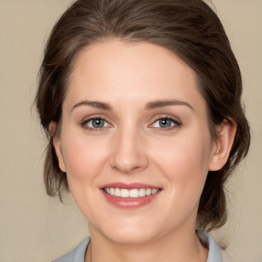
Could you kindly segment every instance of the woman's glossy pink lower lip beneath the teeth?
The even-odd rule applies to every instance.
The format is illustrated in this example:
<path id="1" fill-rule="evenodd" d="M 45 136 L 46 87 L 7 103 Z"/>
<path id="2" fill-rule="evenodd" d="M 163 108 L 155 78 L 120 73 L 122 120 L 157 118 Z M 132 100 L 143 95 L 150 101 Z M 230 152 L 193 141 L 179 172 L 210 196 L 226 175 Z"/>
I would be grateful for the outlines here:
<path id="1" fill-rule="evenodd" d="M 159 190 L 155 194 L 145 195 L 145 197 L 140 197 L 140 198 L 120 198 L 120 197 L 115 197 L 115 195 L 107 194 L 103 189 L 101 191 L 105 199 L 110 204 L 118 208 L 132 209 L 132 208 L 139 208 L 141 206 L 144 206 L 154 201 L 162 190 Z"/>

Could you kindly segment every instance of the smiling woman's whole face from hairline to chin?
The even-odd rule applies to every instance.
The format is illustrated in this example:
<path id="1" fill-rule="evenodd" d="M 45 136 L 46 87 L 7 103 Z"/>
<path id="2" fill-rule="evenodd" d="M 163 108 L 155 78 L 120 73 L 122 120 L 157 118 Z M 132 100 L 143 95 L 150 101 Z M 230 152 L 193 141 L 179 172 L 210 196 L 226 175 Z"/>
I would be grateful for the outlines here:
<path id="1" fill-rule="evenodd" d="M 216 148 L 194 71 L 164 48 L 86 48 L 54 145 L 91 233 L 135 244 L 194 230 Z"/>

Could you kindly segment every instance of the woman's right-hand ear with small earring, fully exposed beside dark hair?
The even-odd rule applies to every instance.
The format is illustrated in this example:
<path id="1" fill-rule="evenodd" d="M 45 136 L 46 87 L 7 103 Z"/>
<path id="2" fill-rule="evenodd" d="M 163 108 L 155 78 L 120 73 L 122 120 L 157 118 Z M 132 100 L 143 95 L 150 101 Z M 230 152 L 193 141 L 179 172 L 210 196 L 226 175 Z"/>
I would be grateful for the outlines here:
<path id="1" fill-rule="evenodd" d="M 237 124 L 230 119 L 225 120 L 218 128 L 217 143 L 213 143 L 209 171 L 220 170 L 227 162 L 230 154 Z"/>

